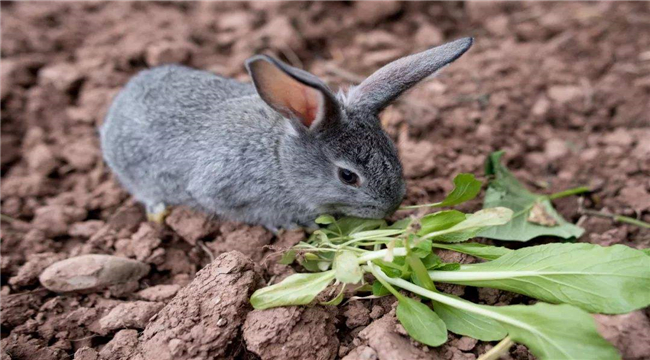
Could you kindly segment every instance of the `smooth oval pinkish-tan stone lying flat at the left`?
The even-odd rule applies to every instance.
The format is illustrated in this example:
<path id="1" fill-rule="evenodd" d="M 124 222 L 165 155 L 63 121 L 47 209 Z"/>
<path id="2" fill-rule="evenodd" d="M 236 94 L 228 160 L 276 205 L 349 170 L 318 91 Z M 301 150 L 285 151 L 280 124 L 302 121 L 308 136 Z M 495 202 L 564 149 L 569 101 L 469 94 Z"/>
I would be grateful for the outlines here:
<path id="1" fill-rule="evenodd" d="M 110 255 L 81 255 L 50 265 L 39 277 L 54 292 L 97 290 L 137 281 L 149 266 L 136 260 Z"/>

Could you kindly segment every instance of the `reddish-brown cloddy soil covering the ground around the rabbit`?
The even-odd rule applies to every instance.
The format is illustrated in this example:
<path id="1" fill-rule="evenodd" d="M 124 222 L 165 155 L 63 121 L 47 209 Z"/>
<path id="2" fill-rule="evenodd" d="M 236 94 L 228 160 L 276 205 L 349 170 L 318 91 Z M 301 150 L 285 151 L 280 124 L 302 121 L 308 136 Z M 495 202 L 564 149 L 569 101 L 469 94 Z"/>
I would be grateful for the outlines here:
<path id="1" fill-rule="evenodd" d="M 382 115 L 406 201 L 439 200 L 455 174 L 481 175 L 504 149 L 535 191 L 589 185 L 584 207 L 650 221 L 648 2 L 2 2 L 1 21 L 2 359 L 473 360 L 493 345 L 454 335 L 436 349 L 417 344 L 390 298 L 251 311 L 252 291 L 296 271 L 273 254 L 302 232 L 274 236 L 185 208 L 165 226 L 147 223 L 102 163 L 97 126 L 130 76 L 163 63 L 248 81 L 243 61 L 266 52 L 337 87 L 474 36 L 467 54 Z M 556 205 L 586 228 L 580 241 L 650 247 L 649 231 L 581 216 L 576 198 Z M 39 285 L 47 266 L 82 254 L 151 270 L 98 292 Z M 648 359 L 649 315 L 597 319 L 626 359 Z M 507 357 L 532 359 L 523 346 Z"/>

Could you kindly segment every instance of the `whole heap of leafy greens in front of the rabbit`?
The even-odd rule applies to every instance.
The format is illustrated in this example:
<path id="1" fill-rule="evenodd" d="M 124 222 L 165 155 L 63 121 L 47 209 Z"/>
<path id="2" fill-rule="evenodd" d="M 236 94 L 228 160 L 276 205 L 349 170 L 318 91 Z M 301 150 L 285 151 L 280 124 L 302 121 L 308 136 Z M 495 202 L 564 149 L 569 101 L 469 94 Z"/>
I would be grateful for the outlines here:
<path id="1" fill-rule="evenodd" d="M 384 220 L 324 215 L 324 227 L 284 254 L 310 273 L 295 274 L 251 297 L 256 309 L 305 305 L 334 282 L 338 305 L 346 286 L 392 294 L 397 318 L 417 341 L 439 346 L 447 331 L 484 341 L 507 339 L 526 345 L 540 359 L 616 359 L 616 349 L 596 331 L 589 313 L 621 314 L 650 304 L 650 256 L 622 245 L 555 243 L 511 250 L 466 242 L 474 237 L 527 241 L 540 235 L 577 238 L 583 229 L 565 221 L 551 200 L 588 191 L 577 188 L 550 196 L 529 192 L 492 154 L 484 208 L 474 214 L 443 210 L 391 225 Z M 408 208 L 455 206 L 475 198 L 482 183 L 471 174 L 454 179 L 441 202 Z M 445 263 L 433 251 L 446 249 L 484 262 Z M 374 282 L 365 281 L 372 274 Z M 535 305 L 487 306 L 445 294 L 435 283 L 488 287 L 540 300 Z M 407 296 L 405 294 L 410 294 Z"/>

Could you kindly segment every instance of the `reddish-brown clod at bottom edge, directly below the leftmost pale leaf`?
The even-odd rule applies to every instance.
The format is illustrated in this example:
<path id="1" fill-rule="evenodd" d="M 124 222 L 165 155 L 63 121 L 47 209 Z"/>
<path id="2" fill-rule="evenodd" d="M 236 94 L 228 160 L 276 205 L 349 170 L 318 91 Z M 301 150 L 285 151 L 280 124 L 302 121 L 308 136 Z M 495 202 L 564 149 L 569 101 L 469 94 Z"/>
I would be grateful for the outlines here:
<path id="1" fill-rule="evenodd" d="M 243 336 L 262 360 L 329 360 L 338 353 L 335 324 L 335 308 L 255 310 L 246 317 Z"/>

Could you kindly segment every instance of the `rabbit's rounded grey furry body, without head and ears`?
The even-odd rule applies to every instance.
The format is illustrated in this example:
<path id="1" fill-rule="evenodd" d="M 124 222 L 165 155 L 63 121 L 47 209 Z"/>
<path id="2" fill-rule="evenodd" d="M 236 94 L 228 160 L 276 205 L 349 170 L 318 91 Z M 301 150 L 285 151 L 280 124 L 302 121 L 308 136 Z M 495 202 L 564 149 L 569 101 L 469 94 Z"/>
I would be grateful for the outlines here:
<path id="1" fill-rule="evenodd" d="M 138 74 L 116 97 L 101 128 L 102 150 L 148 211 L 186 204 L 269 227 L 304 225 L 317 209 L 277 176 L 281 121 L 251 84 L 162 66 Z"/>

